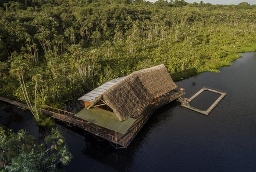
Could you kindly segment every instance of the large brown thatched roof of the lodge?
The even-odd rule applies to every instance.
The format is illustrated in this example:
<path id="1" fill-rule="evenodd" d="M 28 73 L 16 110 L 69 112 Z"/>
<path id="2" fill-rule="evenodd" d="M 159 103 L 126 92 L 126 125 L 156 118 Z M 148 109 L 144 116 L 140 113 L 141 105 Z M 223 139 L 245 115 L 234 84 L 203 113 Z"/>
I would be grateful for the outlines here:
<path id="1" fill-rule="evenodd" d="M 165 65 L 161 64 L 126 76 L 95 98 L 93 105 L 103 100 L 113 109 L 119 120 L 137 118 L 155 98 L 176 87 Z"/>

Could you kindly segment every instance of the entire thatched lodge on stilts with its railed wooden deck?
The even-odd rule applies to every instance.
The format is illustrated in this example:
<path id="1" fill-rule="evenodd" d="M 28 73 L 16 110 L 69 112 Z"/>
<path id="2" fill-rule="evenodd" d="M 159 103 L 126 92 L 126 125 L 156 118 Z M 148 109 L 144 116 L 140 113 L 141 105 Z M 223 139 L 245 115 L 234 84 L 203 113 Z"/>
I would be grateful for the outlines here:
<path id="1" fill-rule="evenodd" d="M 183 94 L 162 64 L 97 87 L 79 98 L 85 108 L 77 114 L 61 109 L 42 112 L 104 138 L 115 148 L 126 148 L 155 109 Z"/>

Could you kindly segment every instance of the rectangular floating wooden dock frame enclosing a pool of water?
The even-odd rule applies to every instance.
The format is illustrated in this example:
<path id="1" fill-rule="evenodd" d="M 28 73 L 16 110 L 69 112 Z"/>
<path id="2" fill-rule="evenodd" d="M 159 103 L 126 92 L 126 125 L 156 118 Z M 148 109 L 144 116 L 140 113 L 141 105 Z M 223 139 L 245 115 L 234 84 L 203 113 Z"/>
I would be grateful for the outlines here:
<path id="1" fill-rule="evenodd" d="M 219 98 L 206 110 L 206 111 L 203 111 L 201 109 L 198 109 L 198 108 L 195 108 L 195 107 L 191 107 L 191 105 L 189 104 L 192 100 L 194 100 L 195 97 L 199 96 L 202 92 L 204 91 L 209 91 L 209 92 L 214 92 L 214 93 L 217 93 L 217 94 L 220 94 Z M 214 89 L 211 89 L 209 87 L 203 87 L 201 90 L 199 90 L 197 93 L 194 94 L 194 96 L 190 97 L 189 99 L 187 98 L 183 98 L 182 100 L 182 104 L 181 106 L 182 107 L 185 107 L 185 108 L 188 108 L 188 109 L 191 109 L 195 112 L 198 112 L 200 114 L 204 114 L 204 115 L 209 115 L 209 113 L 212 111 L 212 109 L 214 109 L 216 107 L 216 105 L 218 105 L 218 103 L 226 96 L 226 93 L 225 92 L 221 92 L 219 90 L 214 90 Z"/>

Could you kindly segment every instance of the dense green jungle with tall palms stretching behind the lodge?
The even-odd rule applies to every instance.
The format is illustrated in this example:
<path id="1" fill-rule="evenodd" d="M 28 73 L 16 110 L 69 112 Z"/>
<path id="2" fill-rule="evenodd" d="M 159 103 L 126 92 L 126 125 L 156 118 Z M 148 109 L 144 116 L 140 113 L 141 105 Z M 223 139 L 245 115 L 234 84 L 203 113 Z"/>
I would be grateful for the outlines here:
<path id="1" fill-rule="evenodd" d="M 246 2 L 0 1 L 0 94 L 56 104 L 162 63 L 175 80 L 218 72 L 256 50 L 255 19 Z"/>

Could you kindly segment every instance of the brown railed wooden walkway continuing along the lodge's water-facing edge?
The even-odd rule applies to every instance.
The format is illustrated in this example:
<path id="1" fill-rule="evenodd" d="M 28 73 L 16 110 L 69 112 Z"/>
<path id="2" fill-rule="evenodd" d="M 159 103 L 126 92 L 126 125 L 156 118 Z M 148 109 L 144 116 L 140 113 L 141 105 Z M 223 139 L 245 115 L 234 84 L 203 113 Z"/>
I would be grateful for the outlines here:
<path id="1" fill-rule="evenodd" d="M 94 134 L 97 137 L 104 138 L 105 140 L 111 142 L 111 144 L 115 148 L 126 148 L 133 140 L 133 138 L 137 135 L 138 131 L 140 131 L 140 129 L 144 126 L 145 122 L 147 122 L 147 120 L 153 114 L 155 109 L 169 103 L 170 101 L 176 100 L 184 94 L 184 91 L 172 91 L 159 97 L 158 100 L 155 100 L 154 102 L 152 102 L 151 105 L 148 106 L 144 114 L 141 115 L 133 123 L 133 125 L 126 132 L 126 134 L 117 133 L 115 131 L 105 129 L 104 127 L 97 126 L 94 123 L 77 118 L 75 116 L 76 114 L 72 112 L 67 112 L 62 109 L 53 108 L 45 105 L 44 108 L 40 109 L 40 111 L 45 115 L 49 115 L 52 118 L 65 122 L 69 126 L 80 127 L 81 129 L 88 131 L 89 133 Z M 0 100 L 23 109 L 28 109 L 26 104 L 21 104 L 16 101 L 9 100 L 8 98 L 0 97 Z"/>

